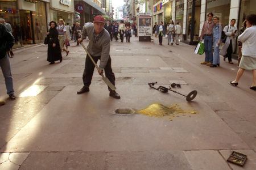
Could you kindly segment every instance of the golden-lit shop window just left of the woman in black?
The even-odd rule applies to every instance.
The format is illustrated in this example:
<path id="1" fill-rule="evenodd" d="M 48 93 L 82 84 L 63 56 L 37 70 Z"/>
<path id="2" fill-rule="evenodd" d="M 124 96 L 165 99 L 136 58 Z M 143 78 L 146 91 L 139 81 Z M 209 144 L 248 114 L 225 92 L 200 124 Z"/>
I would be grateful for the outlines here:
<path id="1" fill-rule="evenodd" d="M 32 12 L 32 20 L 34 26 L 35 44 L 44 41 L 47 33 L 46 23 L 46 3 L 38 1 L 36 4 L 36 11 Z"/>

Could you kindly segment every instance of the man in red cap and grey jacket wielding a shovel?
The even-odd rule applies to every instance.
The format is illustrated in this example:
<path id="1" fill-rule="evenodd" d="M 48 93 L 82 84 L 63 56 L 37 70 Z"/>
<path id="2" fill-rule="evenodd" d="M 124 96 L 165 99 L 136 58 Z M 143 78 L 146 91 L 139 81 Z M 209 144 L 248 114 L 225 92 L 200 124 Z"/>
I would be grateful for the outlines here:
<path id="1" fill-rule="evenodd" d="M 82 28 L 82 37 L 78 40 L 78 42 L 82 42 L 82 40 L 86 39 L 86 36 L 89 37 L 87 50 L 96 63 L 98 59 L 100 59 L 100 70 L 98 73 L 102 74 L 103 70 L 105 70 L 106 78 L 108 78 L 110 82 L 115 85 L 115 75 L 112 71 L 111 58 L 109 56 L 110 35 L 109 32 L 104 28 L 104 23 L 105 20 L 102 16 L 95 16 L 93 23 L 86 23 Z M 87 54 L 85 59 L 84 74 L 82 75 L 84 87 L 77 91 L 77 94 L 89 92 L 89 86 L 92 82 L 94 67 L 95 66 L 92 60 Z M 115 99 L 120 99 L 120 96 L 117 94 L 117 92 L 111 90 L 111 88 L 109 88 L 109 91 L 109 96 L 112 96 Z"/>

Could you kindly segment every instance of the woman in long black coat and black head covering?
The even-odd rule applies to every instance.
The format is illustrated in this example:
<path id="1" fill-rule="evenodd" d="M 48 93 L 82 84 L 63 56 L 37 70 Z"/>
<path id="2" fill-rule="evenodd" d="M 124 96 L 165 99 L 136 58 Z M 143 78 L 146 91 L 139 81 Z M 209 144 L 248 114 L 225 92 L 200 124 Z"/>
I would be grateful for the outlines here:
<path id="1" fill-rule="evenodd" d="M 57 23 L 52 21 L 49 23 L 49 26 L 51 27 L 49 29 L 49 32 L 47 32 L 47 36 L 49 39 L 48 42 L 48 52 L 47 52 L 47 61 L 49 61 L 50 65 L 55 63 L 55 61 L 60 60 L 62 61 L 61 51 L 60 51 L 60 43 L 58 39 L 58 31 L 56 29 Z"/>

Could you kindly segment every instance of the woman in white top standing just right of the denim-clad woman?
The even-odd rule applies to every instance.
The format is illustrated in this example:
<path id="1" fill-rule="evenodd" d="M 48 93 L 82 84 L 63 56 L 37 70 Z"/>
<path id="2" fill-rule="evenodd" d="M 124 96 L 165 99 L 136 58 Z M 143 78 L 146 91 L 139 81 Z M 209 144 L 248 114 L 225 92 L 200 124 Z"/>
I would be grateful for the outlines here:
<path id="1" fill-rule="evenodd" d="M 226 57 L 229 59 L 229 63 L 232 62 L 232 54 L 236 50 L 236 37 L 238 36 L 237 28 L 234 27 L 236 24 L 236 19 L 232 19 L 230 25 L 226 25 L 223 29 L 226 35 L 226 41 L 220 50 L 220 54 L 224 57 L 224 61 L 226 61 Z"/>

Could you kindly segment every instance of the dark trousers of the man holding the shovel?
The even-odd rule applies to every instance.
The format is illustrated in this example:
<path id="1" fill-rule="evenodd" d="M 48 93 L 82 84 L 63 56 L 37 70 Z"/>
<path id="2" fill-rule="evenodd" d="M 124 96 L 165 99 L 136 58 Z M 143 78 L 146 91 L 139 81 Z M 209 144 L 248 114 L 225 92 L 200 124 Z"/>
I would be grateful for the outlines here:
<path id="1" fill-rule="evenodd" d="M 97 63 L 98 59 L 101 59 L 101 56 L 93 57 L 93 60 Z M 84 86 L 89 87 L 90 83 L 92 82 L 92 76 L 94 71 L 94 64 L 90 57 L 87 55 L 85 59 L 85 68 L 84 68 L 84 74 L 82 74 L 82 81 L 84 82 Z M 108 63 L 106 64 L 106 67 L 104 69 L 106 78 L 110 80 L 110 82 L 115 85 L 115 75 L 112 71 L 111 67 L 111 58 L 109 56 Z M 109 87 L 108 87 L 109 88 Z M 112 91 L 109 88 L 109 91 Z"/>

